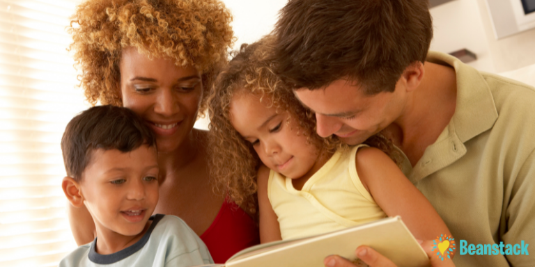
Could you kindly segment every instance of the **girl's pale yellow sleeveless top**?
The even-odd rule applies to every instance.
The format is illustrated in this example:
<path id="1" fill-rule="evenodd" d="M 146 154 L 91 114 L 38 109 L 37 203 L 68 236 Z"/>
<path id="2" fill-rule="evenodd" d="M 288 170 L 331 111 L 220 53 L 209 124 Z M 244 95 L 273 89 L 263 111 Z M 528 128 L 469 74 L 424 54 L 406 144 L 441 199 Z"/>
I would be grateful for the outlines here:
<path id="1" fill-rule="evenodd" d="M 271 170 L 267 197 L 277 213 L 283 240 L 386 217 L 357 175 L 355 155 L 365 146 L 338 149 L 300 191 L 293 187 L 292 179 Z"/>

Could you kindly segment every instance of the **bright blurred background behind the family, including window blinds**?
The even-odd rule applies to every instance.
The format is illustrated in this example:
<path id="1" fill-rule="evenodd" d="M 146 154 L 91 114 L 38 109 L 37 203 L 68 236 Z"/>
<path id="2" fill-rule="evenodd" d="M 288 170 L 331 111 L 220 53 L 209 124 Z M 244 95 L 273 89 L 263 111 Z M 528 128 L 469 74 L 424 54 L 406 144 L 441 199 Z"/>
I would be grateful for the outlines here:
<path id="1" fill-rule="evenodd" d="M 223 0 L 242 42 L 272 30 L 286 0 Z M 79 0 L 0 0 L 0 266 L 57 266 L 76 248 L 60 140 L 86 108 L 65 32 Z M 535 86 L 535 0 L 431 0 L 431 49 Z M 531 10 L 531 11 L 530 11 Z M 196 127 L 207 129 L 200 120 Z"/>

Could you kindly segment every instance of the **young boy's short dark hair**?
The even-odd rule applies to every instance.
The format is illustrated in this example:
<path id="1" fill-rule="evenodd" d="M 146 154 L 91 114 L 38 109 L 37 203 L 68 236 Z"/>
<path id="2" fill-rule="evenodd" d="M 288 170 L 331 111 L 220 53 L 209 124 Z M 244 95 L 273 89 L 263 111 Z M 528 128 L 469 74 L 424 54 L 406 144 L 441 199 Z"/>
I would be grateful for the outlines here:
<path id="1" fill-rule="evenodd" d="M 75 116 L 61 138 L 65 170 L 76 181 L 82 179 L 93 149 L 130 152 L 141 145 L 156 145 L 153 131 L 130 109 L 111 105 L 93 106 Z"/>

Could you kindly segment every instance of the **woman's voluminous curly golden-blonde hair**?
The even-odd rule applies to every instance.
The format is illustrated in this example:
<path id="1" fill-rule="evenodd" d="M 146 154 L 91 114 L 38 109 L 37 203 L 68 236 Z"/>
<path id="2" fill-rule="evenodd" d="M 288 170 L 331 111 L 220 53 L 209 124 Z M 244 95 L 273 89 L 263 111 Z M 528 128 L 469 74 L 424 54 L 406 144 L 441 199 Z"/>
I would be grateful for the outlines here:
<path id="1" fill-rule="evenodd" d="M 95 105 L 122 106 L 119 63 L 126 47 L 171 58 L 202 72 L 203 99 L 233 44 L 231 14 L 219 0 L 89 0 L 77 6 L 68 32 L 80 86 Z"/>

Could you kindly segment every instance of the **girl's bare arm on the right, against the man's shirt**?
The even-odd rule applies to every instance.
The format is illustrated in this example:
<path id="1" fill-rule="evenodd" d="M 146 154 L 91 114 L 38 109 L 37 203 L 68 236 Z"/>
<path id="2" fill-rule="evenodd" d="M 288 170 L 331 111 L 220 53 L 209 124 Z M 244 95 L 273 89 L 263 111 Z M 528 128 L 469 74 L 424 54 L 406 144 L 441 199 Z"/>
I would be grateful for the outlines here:
<path id="1" fill-rule="evenodd" d="M 424 195 L 387 154 L 375 147 L 357 150 L 357 173 L 364 188 L 388 216 L 401 216 L 420 240 L 433 240 L 449 229 Z"/>

